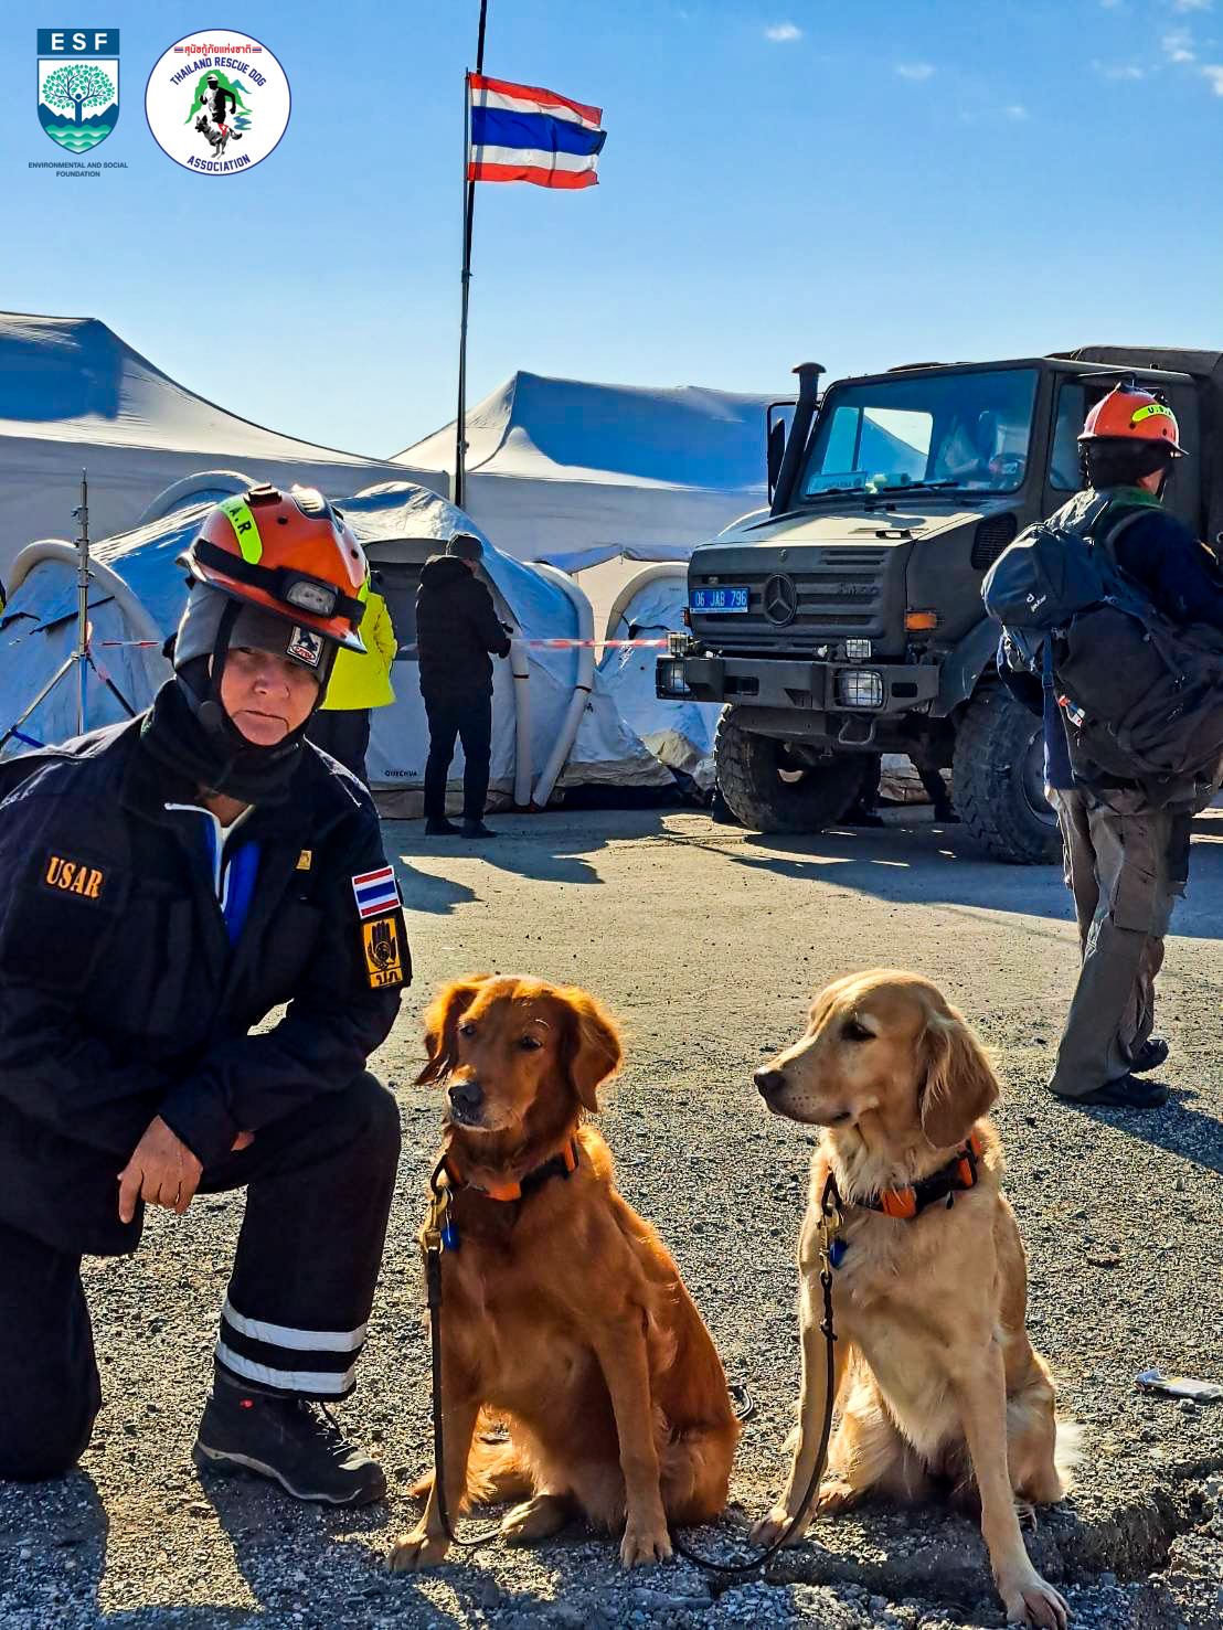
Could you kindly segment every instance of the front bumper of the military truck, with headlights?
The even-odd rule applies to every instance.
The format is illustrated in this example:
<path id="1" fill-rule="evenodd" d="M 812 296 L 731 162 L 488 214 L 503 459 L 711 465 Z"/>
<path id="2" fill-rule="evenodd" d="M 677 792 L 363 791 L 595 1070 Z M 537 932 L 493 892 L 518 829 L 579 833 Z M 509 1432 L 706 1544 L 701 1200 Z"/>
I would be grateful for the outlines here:
<path id="1" fill-rule="evenodd" d="M 900 714 L 938 696 L 934 663 L 804 662 L 762 657 L 659 657 L 664 701 L 734 703 L 796 712 Z"/>

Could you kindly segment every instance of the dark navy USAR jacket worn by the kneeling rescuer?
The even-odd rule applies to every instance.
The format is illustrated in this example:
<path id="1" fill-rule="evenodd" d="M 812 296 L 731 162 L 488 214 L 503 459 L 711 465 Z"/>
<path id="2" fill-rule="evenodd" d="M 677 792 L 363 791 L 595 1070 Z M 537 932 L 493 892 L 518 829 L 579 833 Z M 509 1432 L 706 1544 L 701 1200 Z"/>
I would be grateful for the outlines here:
<path id="1" fill-rule="evenodd" d="M 153 1115 L 207 1169 L 342 1092 L 409 978 L 398 905 L 357 911 L 354 877 L 386 866 L 370 795 L 313 745 L 233 830 L 259 844 L 235 945 L 207 817 L 168 802 L 197 795 L 139 719 L 0 766 L 0 1218 L 65 1252 L 135 1249 L 116 1177 Z"/>

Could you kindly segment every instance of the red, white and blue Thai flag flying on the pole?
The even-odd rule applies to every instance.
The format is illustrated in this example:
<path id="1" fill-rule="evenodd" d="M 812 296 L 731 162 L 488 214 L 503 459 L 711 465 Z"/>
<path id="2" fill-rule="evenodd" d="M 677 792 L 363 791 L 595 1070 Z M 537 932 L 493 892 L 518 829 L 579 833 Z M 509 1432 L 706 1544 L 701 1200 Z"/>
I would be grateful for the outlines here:
<path id="1" fill-rule="evenodd" d="M 468 73 L 468 181 L 532 181 L 536 187 L 594 187 L 607 140 L 602 108 L 554 91 Z"/>

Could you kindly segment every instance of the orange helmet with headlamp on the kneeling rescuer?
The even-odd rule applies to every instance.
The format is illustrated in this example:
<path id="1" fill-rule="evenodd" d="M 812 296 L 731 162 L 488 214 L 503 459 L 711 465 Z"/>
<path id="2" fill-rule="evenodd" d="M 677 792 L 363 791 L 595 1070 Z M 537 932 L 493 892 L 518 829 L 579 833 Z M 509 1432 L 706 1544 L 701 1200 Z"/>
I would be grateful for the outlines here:
<path id="1" fill-rule="evenodd" d="M 365 613 L 365 554 L 321 492 L 249 487 L 223 499 L 188 551 L 192 577 L 349 650 Z"/>

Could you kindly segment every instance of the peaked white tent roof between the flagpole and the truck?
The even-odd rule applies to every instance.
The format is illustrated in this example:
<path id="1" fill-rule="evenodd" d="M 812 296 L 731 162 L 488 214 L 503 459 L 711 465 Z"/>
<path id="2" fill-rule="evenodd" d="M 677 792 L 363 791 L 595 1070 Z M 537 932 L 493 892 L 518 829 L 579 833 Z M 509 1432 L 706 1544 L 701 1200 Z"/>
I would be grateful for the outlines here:
<path id="1" fill-rule="evenodd" d="M 766 396 L 515 373 L 466 414 L 465 509 L 527 561 L 566 570 L 687 557 L 765 500 Z M 448 479 L 455 425 L 396 453 Z M 448 491 L 448 487 L 447 487 Z"/>

